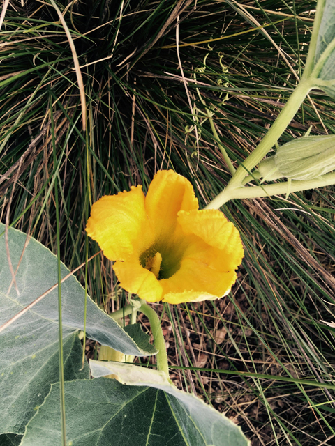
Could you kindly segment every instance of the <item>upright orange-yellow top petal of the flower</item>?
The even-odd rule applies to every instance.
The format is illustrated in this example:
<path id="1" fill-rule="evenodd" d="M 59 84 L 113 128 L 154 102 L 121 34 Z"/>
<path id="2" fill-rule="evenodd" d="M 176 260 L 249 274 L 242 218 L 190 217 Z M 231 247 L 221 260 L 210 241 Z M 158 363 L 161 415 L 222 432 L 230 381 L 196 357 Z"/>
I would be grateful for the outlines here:
<path id="1" fill-rule="evenodd" d="M 177 226 L 179 210 L 198 209 L 191 183 L 172 170 L 158 171 L 149 185 L 145 208 L 156 239 L 167 238 Z"/>

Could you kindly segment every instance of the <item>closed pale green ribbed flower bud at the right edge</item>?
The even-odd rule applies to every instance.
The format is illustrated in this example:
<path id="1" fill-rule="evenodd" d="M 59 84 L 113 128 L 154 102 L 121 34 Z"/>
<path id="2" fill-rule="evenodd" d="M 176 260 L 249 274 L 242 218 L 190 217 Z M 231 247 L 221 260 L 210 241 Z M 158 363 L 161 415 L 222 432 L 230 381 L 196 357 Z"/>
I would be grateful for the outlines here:
<path id="1" fill-rule="evenodd" d="M 290 180 L 312 180 L 335 169 L 335 135 L 301 137 L 265 158 L 258 171 L 263 180 L 285 176 Z"/>

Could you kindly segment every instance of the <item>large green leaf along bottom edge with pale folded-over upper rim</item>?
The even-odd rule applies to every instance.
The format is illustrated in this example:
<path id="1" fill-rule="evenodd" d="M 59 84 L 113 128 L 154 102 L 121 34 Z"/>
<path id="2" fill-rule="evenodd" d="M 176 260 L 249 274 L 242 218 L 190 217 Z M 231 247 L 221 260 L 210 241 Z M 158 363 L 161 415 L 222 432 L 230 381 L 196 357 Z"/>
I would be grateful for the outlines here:
<path id="1" fill-rule="evenodd" d="M 171 385 L 163 372 L 115 362 L 94 362 L 92 371 L 119 374 L 131 385 L 108 378 L 65 383 L 68 445 L 248 445 L 238 426 Z M 52 385 L 45 403 L 27 426 L 22 446 L 59 445 L 59 385 Z"/>

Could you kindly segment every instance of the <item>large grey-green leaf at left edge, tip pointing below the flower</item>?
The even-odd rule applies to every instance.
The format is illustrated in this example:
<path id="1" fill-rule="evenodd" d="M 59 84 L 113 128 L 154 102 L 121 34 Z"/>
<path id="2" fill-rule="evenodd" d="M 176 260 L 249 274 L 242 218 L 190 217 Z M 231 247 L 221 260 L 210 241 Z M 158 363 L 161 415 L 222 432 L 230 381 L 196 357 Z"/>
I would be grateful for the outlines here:
<path id="1" fill-rule="evenodd" d="M 4 225 L 0 224 L 0 234 Z M 57 257 L 26 234 L 9 229 L 10 261 L 16 272 L 17 294 L 8 266 L 5 238 L 0 238 L 0 325 L 57 283 Z M 24 254 L 22 255 L 22 250 Z M 20 266 L 17 268 L 20 261 Z M 61 276 L 68 274 L 61 265 Z M 73 276 L 61 285 L 64 374 L 66 380 L 89 376 L 82 367 L 82 348 L 77 332 L 84 327 L 84 289 Z M 87 335 L 101 344 L 128 355 L 151 355 L 87 298 Z M 59 381 L 58 293 L 45 296 L 34 307 L 0 333 L 0 433 L 23 433 L 24 426 Z M 142 340 L 141 340 L 142 342 Z M 144 344 L 142 344 L 144 345 Z"/>

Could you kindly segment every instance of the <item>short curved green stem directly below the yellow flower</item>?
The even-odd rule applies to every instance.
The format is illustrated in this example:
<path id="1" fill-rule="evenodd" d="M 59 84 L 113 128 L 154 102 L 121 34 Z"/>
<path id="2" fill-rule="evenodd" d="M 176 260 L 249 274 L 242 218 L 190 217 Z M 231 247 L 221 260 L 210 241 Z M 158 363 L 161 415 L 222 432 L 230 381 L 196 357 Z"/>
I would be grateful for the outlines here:
<path id="1" fill-rule="evenodd" d="M 146 303 L 142 304 L 138 311 L 145 314 L 150 322 L 150 327 L 154 336 L 154 344 L 158 350 L 156 355 L 157 369 L 164 371 L 166 377 L 169 378 L 168 355 L 166 353 L 165 339 L 163 337 L 161 322 L 159 321 L 157 313 Z"/>

